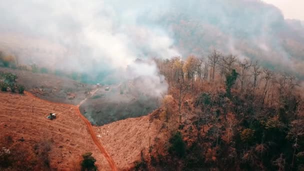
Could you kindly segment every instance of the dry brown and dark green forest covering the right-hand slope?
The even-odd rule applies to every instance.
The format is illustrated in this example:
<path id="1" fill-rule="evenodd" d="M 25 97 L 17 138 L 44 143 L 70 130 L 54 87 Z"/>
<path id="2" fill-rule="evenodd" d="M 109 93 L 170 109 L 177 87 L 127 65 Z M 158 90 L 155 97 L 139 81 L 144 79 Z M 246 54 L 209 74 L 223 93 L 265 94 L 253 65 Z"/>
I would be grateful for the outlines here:
<path id="1" fill-rule="evenodd" d="M 135 170 L 303 168 L 304 101 L 295 76 L 217 50 L 157 64 L 170 88 L 162 112 L 149 115 L 161 126 Z"/>

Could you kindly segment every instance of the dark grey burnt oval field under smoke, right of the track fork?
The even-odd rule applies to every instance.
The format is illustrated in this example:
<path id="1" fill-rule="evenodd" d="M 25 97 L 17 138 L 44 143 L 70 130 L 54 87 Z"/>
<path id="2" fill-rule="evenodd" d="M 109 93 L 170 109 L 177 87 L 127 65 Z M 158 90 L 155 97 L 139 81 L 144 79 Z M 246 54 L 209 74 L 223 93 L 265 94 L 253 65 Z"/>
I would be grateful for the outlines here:
<path id="1" fill-rule="evenodd" d="M 83 104 L 80 112 L 92 124 L 103 125 L 113 121 L 147 115 L 158 107 L 158 99 L 132 90 L 122 91 L 119 85 L 100 89 Z"/>

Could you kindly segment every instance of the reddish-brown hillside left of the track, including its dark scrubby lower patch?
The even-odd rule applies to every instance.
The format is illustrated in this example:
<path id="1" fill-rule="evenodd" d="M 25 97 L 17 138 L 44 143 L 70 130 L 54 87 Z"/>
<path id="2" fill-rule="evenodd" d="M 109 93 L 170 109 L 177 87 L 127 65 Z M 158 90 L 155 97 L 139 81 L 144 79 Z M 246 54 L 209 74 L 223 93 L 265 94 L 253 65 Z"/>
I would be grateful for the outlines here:
<path id="1" fill-rule="evenodd" d="M 9 92 L 0 92 L 0 102 L 0 146 L 19 161 L 13 170 L 77 169 L 88 151 L 101 170 L 110 169 L 74 108 Z M 47 119 L 49 112 L 57 118 Z"/>

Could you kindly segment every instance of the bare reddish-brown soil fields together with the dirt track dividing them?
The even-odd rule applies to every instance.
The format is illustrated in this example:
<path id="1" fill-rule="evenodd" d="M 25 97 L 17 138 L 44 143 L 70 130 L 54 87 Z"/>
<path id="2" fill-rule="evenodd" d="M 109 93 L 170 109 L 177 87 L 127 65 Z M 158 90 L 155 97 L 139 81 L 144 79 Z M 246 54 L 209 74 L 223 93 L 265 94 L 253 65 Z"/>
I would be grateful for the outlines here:
<path id="1" fill-rule="evenodd" d="M 79 105 L 49 102 L 30 93 L 0 92 L 0 103 L 0 134 L 11 135 L 15 141 L 24 137 L 22 143 L 28 148 L 52 138 L 50 165 L 58 170 L 72 168 L 74 160 L 86 151 L 93 153 L 100 170 L 115 170 L 115 165 L 118 170 L 128 170 L 140 160 L 141 150 L 148 156 L 161 123 L 159 119 L 151 120 L 151 115 L 159 112 L 155 110 L 147 116 L 92 127 L 80 114 Z M 47 119 L 49 112 L 57 113 L 57 118 Z"/>

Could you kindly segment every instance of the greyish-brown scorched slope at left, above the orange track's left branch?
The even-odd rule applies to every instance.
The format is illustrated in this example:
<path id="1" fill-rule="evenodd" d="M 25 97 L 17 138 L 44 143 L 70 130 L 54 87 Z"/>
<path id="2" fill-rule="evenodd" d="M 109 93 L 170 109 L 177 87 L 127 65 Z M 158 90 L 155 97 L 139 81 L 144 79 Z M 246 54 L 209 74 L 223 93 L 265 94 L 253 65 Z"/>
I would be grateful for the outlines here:
<path id="1" fill-rule="evenodd" d="M 69 78 L 47 73 L 0 67 L 0 72 L 11 72 L 18 76 L 17 83 L 34 95 L 54 102 L 78 104 L 94 86 Z"/>

